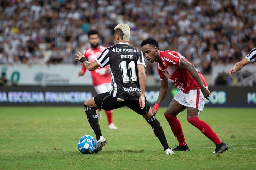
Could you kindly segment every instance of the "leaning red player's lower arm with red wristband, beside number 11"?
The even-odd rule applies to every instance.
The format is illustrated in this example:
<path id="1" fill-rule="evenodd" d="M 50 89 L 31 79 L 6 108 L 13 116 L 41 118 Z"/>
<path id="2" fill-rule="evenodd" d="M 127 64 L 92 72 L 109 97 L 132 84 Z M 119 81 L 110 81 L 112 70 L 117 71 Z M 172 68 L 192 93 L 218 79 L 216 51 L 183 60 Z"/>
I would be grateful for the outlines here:
<path id="1" fill-rule="evenodd" d="M 154 115 L 156 114 L 159 106 L 164 101 L 167 91 L 168 91 L 168 78 L 165 78 L 161 80 L 161 89 L 159 91 L 157 101 L 152 109 L 152 113 Z"/>

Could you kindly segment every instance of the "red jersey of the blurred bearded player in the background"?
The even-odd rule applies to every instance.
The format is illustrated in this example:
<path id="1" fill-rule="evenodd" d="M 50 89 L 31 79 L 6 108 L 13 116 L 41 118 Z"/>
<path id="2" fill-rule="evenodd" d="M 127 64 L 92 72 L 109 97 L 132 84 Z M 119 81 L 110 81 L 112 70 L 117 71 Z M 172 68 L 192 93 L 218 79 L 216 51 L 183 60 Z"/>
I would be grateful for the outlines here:
<path id="1" fill-rule="evenodd" d="M 107 47 L 103 47 L 101 45 L 99 45 L 97 49 L 90 47 L 83 52 L 83 55 L 89 62 L 93 62 L 95 59 L 98 58 L 98 56 L 100 56 L 101 52 L 106 48 Z M 111 82 L 111 75 L 110 73 L 107 73 L 107 69 L 108 66 L 105 66 L 103 68 L 98 67 L 97 69 L 91 71 L 91 78 L 94 86 Z M 84 72 L 86 71 L 84 65 L 82 65 L 81 70 Z"/>

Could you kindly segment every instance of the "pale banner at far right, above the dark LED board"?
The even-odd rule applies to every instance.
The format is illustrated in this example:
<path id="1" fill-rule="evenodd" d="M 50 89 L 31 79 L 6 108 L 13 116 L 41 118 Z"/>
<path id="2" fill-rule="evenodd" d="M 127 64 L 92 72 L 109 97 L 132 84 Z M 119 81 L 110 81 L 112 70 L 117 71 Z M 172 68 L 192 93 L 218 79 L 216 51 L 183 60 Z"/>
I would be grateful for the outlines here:
<path id="1" fill-rule="evenodd" d="M 256 65 L 248 64 L 242 70 L 228 76 L 228 70 L 234 64 L 212 66 L 212 84 L 216 79 L 225 79 L 227 86 L 232 87 L 255 87 L 256 86 Z"/>

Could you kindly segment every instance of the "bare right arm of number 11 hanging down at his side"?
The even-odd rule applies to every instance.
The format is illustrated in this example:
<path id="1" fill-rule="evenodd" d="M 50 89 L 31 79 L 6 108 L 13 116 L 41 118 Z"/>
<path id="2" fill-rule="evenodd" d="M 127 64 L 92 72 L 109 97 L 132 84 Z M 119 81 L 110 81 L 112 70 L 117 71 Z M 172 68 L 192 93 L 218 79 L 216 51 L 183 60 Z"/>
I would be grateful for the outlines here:
<path id="1" fill-rule="evenodd" d="M 138 77 L 139 77 L 139 84 L 140 84 L 140 107 L 143 110 L 145 107 L 145 86 L 146 86 L 146 73 L 145 67 L 142 64 L 138 65 Z"/>

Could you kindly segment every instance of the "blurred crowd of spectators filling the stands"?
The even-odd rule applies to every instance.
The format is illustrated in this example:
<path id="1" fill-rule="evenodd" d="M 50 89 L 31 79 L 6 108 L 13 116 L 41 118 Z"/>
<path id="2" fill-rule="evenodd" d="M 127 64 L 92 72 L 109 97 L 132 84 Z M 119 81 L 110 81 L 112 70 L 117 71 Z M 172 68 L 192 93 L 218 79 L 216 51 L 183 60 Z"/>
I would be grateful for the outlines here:
<path id="1" fill-rule="evenodd" d="M 114 44 L 114 27 L 127 23 L 130 44 L 148 37 L 160 50 L 180 52 L 199 71 L 240 61 L 256 46 L 255 0 L 2 0 L 0 64 L 75 63 L 90 47 L 87 31 L 100 31 L 101 45 Z M 147 73 L 154 73 L 154 67 Z"/>

